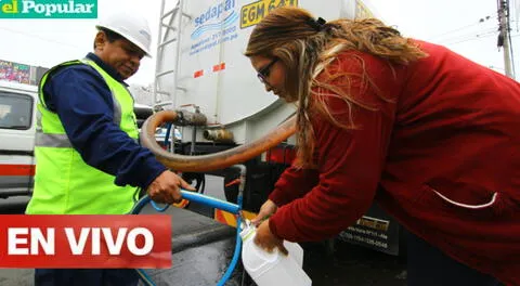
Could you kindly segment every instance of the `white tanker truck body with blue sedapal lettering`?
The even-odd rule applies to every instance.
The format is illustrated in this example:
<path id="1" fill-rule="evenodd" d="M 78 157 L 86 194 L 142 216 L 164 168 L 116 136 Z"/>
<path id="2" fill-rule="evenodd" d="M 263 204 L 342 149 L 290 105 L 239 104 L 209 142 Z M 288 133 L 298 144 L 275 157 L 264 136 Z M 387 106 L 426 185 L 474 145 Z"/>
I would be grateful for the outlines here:
<path id="1" fill-rule="evenodd" d="M 157 94 L 167 94 L 171 108 L 199 106 L 208 128 L 225 127 L 237 144 L 284 121 L 295 107 L 268 93 L 244 56 L 255 25 L 278 5 L 301 6 L 325 20 L 365 17 L 373 10 L 367 0 L 165 1 L 162 21 L 176 29 L 159 34 Z M 190 133 L 183 140 L 192 140 Z"/>

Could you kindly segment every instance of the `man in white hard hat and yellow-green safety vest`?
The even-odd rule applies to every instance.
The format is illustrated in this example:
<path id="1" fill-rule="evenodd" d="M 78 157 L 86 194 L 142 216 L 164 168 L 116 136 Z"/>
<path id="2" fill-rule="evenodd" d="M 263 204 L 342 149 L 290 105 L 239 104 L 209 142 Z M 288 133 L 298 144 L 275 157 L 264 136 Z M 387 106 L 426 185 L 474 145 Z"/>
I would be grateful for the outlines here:
<path id="1" fill-rule="evenodd" d="M 181 200 L 193 190 L 138 143 L 133 98 L 123 80 L 150 56 L 151 32 L 139 15 L 100 22 L 94 52 L 60 64 L 39 90 L 35 190 L 29 214 L 123 214 L 139 188 L 152 199 Z M 36 285 L 136 285 L 132 270 L 36 270 Z"/>

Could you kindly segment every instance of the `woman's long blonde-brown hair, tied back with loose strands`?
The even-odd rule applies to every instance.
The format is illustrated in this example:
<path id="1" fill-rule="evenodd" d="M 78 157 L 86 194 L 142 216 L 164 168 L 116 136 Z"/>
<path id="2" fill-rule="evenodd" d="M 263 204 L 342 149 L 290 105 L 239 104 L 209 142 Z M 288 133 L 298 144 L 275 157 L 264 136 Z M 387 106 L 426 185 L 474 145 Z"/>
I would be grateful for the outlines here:
<path id="1" fill-rule="evenodd" d="M 359 77 L 363 82 L 373 84 L 364 72 L 362 75 L 337 73 L 328 75 L 330 77 L 326 80 L 316 80 L 316 76 L 344 51 L 369 53 L 391 64 L 402 65 L 427 56 L 410 39 L 378 20 L 340 18 L 323 23 L 299 8 L 273 10 L 255 27 L 249 38 L 246 56 L 277 57 L 287 69 L 284 95 L 289 102 L 298 102 L 297 165 L 300 167 L 314 165 L 314 131 L 309 117 L 311 105 L 336 126 L 346 129 L 355 127 L 352 115 L 350 122 L 339 122 L 332 115 L 324 96 L 310 96 L 316 90 L 334 92 L 347 103 L 350 114 L 354 105 L 374 109 L 349 94 L 348 87 L 327 83 L 341 78 L 344 79 L 341 82 L 349 86 L 351 77 Z M 377 87 L 374 88 L 377 90 Z"/>

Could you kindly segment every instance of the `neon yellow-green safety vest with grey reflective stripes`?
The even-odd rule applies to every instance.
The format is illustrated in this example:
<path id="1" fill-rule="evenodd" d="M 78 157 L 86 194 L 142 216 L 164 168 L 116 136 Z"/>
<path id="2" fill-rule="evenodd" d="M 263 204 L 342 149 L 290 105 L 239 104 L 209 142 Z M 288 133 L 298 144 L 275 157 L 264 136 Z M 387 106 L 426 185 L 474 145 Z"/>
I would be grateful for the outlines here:
<path id="1" fill-rule="evenodd" d="M 131 139 L 138 140 L 133 99 L 122 83 L 90 60 L 66 62 L 53 67 L 40 81 L 35 190 L 27 213 L 121 214 L 133 206 L 135 187 L 117 186 L 114 176 L 87 165 L 72 146 L 57 114 L 47 108 L 42 88 L 49 76 L 58 67 L 78 64 L 91 66 L 103 77 L 112 92 L 114 123 Z"/>

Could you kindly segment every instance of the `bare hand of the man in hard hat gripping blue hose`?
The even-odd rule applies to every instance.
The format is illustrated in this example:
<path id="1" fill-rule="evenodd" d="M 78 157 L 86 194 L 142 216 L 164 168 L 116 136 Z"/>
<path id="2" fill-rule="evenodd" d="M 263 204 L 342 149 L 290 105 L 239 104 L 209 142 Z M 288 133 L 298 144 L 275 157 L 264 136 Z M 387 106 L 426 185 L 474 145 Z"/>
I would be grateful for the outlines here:
<path id="1" fill-rule="evenodd" d="M 148 185 L 146 193 L 152 200 L 164 204 L 181 202 L 181 187 L 195 191 L 195 188 L 171 171 L 164 171 Z"/>

